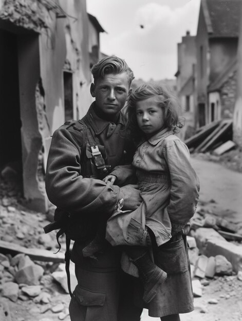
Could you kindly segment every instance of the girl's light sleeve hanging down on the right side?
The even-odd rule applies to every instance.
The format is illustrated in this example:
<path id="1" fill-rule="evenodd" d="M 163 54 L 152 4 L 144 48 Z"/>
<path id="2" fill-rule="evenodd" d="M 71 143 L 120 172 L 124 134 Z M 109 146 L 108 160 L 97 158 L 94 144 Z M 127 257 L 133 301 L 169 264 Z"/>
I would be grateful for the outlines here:
<path id="1" fill-rule="evenodd" d="M 166 142 L 162 152 L 171 175 L 170 204 L 166 210 L 172 230 L 179 232 L 195 213 L 199 180 L 190 163 L 188 147 L 180 139 Z"/>

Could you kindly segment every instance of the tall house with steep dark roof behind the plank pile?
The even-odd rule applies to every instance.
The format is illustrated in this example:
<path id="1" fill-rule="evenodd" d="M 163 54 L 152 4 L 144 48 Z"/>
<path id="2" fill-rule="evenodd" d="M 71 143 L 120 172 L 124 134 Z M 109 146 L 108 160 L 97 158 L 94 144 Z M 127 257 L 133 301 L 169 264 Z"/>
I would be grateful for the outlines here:
<path id="1" fill-rule="evenodd" d="M 240 0 L 201 0 L 197 36 L 196 125 L 232 118 Z"/>

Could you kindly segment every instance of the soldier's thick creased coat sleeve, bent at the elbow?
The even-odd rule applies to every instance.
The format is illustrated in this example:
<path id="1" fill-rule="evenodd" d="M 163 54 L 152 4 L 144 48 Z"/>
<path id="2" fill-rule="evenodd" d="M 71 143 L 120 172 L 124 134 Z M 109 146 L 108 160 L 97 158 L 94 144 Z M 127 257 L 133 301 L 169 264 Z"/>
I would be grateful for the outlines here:
<path id="1" fill-rule="evenodd" d="M 46 192 L 51 203 L 70 213 L 111 213 L 119 187 L 81 176 L 81 149 L 65 128 L 53 134 L 46 170 Z"/>

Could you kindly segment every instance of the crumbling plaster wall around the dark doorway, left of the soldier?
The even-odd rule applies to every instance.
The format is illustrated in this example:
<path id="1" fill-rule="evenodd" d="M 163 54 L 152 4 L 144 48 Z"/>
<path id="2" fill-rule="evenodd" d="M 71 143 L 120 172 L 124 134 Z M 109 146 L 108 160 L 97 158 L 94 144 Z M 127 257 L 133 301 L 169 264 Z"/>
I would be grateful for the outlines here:
<path id="1" fill-rule="evenodd" d="M 29 207 L 39 211 L 49 206 L 44 175 L 51 135 L 65 122 L 63 70 L 72 75 L 73 117 L 81 118 L 92 101 L 85 0 L 55 4 L 47 0 L 0 0 L 0 23 L 8 23 L 20 33 L 24 196 Z M 23 30 L 29 33 L 22 34 Z"/>

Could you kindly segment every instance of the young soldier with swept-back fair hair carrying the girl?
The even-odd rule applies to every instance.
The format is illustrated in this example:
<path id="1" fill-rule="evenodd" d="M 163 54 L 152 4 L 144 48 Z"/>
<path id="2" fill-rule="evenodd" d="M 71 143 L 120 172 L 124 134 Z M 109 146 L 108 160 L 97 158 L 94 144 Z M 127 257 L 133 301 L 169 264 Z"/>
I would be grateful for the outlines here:
<path id="1" fill-rule="evenodd" d="M 82 121 L 67 122 L 54 132 L 46 192 L 50 202 L 76 219 L 80 234 L 71 254 L 78 279 L 69 306 L 71 321 L 138 321 L 142 309 L 133 304 L 134 279 L 120 269 L 119 249 L 106 243 L 95 258 L 82 252 L 96 235 L 100 217 L 109 217 L 120 199 L 124 199 L 124 210 L 135 210 L 141 203 L 134 186 L 120 188 L 102 181 L 109 170 L 132 161 L 131 144 L 121 133 L 120 110 L 133 72 L 116 56 L 103 58 L 91 72 L 95 102 Z"/>

